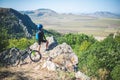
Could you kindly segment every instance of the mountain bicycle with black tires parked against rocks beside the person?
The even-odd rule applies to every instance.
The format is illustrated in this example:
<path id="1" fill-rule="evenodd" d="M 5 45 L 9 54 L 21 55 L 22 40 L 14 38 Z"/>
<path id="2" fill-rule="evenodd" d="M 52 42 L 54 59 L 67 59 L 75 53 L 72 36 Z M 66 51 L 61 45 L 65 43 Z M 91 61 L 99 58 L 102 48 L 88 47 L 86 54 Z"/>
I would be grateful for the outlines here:
<path id="1" fill-rule="evenodd" d="M 32 50 L 29 47 L 23 52 L 21 52 L 17 48 L 12 48 L 10 50 L 9 57 L 7 58 L 6 62 L 12 66 L 17 66 L 20 64 L 21 60 L 23 61 L 23 59 L 27 57 L 26 55 L 29 56 L 29 58 L 33 62 L 38 62 L 42 58 L 42 55 L 40 54 L 39 51 Z M 23 57 L 23 56 L 26 56 L 26 57 Z"/>

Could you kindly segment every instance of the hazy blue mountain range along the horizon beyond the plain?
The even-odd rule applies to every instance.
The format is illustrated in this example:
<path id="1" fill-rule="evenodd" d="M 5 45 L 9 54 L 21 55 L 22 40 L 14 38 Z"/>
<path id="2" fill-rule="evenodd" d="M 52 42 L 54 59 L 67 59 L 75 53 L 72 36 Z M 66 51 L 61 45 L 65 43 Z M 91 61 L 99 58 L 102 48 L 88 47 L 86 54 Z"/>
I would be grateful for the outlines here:
<path id="1" fill-rule="evenodd" d="M 37 10 L 20 11 L 20 12 L 24 13 L 24 14 L 28 14 L 30 16 L 38 16 L 38 17 L 40 17 L 40 16 L 59 16 L 59 14 L 60 14 L 51 9 L 37 9 Z M 63 13 L 63 14 L 76 15 L 73 13 Z M 106 17 L 106 18 L 120 18 L 119 14 L 115 14 L 115 13 L 107 12 L 107 11 L 97 11 L 94 13 L 78 13 L 77 15 L 92 16 L 92 17 Z"/>

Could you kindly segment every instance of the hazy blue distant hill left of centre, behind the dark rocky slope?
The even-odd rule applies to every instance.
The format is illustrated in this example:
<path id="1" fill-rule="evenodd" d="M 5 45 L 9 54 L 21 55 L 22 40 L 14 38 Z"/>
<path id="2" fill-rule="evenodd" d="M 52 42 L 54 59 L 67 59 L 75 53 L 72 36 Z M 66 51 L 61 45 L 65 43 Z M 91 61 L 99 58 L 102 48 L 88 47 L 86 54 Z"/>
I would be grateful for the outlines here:
<path id="1" fill-rule="evenodd" d="M 21 13 L 32 15 L 32 16 L 55 16 L 57 13 L 51 9 L 37 9 L 31 11 L 20 11 Z"/>

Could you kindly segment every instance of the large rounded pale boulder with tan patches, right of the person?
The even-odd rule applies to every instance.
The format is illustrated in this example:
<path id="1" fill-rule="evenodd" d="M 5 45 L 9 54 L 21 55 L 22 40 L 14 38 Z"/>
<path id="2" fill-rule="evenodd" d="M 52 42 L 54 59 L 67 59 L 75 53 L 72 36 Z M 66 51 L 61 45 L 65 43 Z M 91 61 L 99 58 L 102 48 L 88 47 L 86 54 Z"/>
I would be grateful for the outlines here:
<path id="1" fill-rule="evenodd" d="M 60 44 L 51 50 L 49 57 L 52 58 L 52 62 L 60 69 L 64 68 L 73 71 L 73 65 L 78 64 L 78 57 L 66 43 Z"/>

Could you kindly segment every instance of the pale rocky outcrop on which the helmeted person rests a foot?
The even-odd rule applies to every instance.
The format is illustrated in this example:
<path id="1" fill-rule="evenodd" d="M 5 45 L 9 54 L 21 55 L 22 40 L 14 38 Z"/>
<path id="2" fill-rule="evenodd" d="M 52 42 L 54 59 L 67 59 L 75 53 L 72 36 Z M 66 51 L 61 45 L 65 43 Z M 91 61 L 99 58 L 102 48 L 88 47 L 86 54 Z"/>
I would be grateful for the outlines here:
<path id="1" fill-rule="evenodd" d="M 42 43 L 40 52 L 44 57 L 42 68 L 49 68 L 51 65 L 54 66 L 54 69 L 62 69 L 73 71 L 73 65 L 78 64 L 78 57 L 73 52 L 72 48 L 66 44 L 57 45 L 54 37 L 47 37 L 49 42 L 49 51 L 45 51 L 46 45 Z M 30 48 L 36 50 L 38 47 L 37 43 L 34 43 Z M 46 56 L 47 55 L 47 56 Z M 51 65 L 50 65 L 51 63 Z M 49 69 L 48 69 L 49 70 Z"/>

